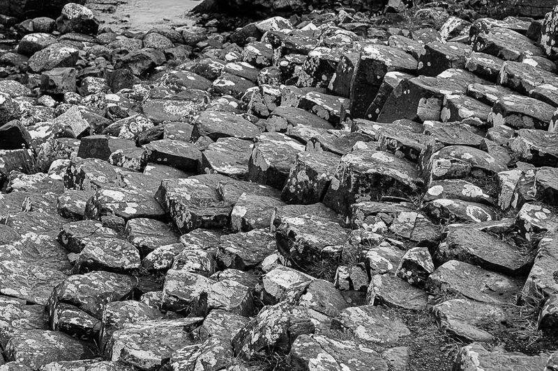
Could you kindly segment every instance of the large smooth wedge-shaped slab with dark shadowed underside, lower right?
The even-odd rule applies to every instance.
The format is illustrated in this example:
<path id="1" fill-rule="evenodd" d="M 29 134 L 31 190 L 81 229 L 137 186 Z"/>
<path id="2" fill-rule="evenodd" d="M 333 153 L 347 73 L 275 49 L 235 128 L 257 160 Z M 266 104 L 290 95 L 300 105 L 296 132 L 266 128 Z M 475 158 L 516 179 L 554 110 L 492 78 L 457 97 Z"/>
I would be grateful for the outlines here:
<path id="1" fill-rule="evenodd" d="M 527 271 L 531 265 L 527 253 L 515 244 L 508 244 L 481 230 L 455 228 L 438 246 L 435 257 L 439 262 L 460 260 L 515 276 Z"/>

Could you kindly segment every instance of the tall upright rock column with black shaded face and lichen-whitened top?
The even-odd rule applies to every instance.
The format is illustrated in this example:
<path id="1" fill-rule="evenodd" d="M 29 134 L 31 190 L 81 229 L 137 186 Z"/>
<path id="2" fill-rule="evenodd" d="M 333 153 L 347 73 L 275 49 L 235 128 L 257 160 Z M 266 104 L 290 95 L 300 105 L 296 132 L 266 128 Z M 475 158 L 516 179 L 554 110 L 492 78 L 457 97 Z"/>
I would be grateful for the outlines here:
<path id="1" fill-rule="evenodd" d="M 361 52 L 351 86 L 350 111 L 354 118 L 363 118 L 387 72 L 414 73 L 416 60 L 395 47 L 367 45 Z M 358 99 L 357 99 L 358 97 Z"/>

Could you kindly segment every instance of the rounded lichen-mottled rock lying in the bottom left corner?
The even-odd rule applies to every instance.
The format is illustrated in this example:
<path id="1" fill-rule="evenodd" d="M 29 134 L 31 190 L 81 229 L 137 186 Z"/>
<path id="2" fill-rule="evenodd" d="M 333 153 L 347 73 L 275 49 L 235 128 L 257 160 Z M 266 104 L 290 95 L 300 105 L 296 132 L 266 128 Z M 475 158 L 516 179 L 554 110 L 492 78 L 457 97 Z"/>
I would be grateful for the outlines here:
<path id="1" fill-rule="evenodd" d="M 20 361 L 34 370 L 54 361 L 74 361 L 93 356 L 89 345 L 56 331 L 23 331 L 6 345 L 8 361 Z"/>

